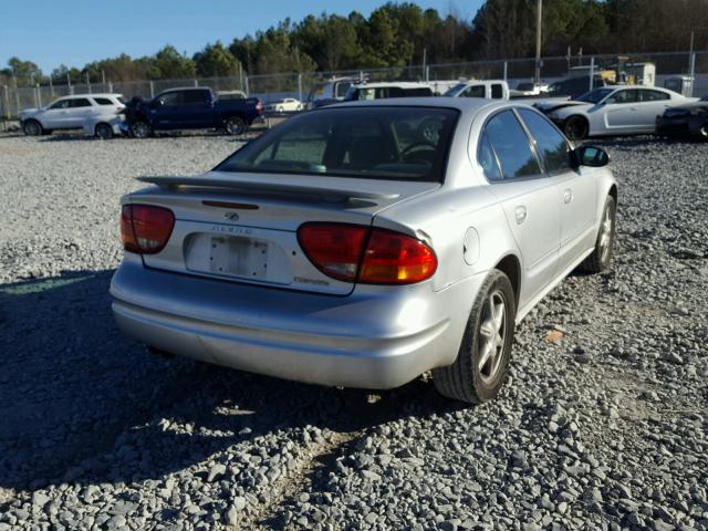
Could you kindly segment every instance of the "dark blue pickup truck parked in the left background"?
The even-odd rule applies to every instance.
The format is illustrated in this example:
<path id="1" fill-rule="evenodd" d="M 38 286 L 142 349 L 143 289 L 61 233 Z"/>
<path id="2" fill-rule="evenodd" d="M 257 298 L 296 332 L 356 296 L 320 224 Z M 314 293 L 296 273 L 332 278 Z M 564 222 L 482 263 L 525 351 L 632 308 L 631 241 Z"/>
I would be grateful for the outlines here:
<path id="1" fill-rule="evenodd" d="M 220 100 L 207 87 L 171 88 L 153 100 L 134 97 L 123 114 L 123 131 L 135 138 L 175 129 L 221 129 L 240 135 L 260 118 L 263 104 L 257 97 Z"/>

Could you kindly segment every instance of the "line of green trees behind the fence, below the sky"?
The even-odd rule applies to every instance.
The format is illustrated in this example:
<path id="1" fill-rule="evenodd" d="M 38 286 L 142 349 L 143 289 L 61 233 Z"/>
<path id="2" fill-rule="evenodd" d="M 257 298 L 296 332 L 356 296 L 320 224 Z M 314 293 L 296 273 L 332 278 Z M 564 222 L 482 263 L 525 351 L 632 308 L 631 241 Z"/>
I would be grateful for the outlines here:
<path id="1" fill-rule="evenodd" d="M 368 18 L 309 15 L 289 19 L 235 39 L 207 44 L 192 56 L 166 45 L 155 55 L 126 54 L 79 69 L 42 72 L 12 58 L 0 71 L 18 85 L 103 80 L 214 77 L 281 72 L 406 66 L 456 61 L 529 58 L 535 46 L 537 0 L 487 0 L 471 20 L 450 10 L 441 15 L 412 2 L 388 2 Z M 543 55 L 686 51 L 708 49 L 708 0 L 544 0 Z M 0 80 L 3 82 L 3 80 Z"/>

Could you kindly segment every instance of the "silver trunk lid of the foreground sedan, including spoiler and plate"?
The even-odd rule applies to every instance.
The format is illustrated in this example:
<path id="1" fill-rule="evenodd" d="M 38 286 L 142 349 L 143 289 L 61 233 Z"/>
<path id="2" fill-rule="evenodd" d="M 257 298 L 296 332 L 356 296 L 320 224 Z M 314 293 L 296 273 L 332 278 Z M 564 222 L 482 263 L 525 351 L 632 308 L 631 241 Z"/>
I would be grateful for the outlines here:
<path id="1" fill-rule="evenodd" d="M 429 192 L 437 183 L 326 176 L 233 174 L 142 177 L 156 185 L 124 202 L 169 208 L 175 227 L 147 267 L 272 288 L 344 295 L 354 284 L 310 262 L 298 241 L 306 221 L 369 226 L 385 208 Z"/>

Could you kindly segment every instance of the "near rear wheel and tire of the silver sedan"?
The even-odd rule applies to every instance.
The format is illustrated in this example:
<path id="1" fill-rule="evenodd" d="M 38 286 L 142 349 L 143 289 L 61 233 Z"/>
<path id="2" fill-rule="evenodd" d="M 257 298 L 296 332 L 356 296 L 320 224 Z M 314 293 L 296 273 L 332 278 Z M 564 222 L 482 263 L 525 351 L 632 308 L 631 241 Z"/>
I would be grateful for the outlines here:
<path id="1" fill-rule="evenodd" d="M 497 396 L 507 376 L 516 314 L 511 282 L 493 270 L 477 293 L 457 360 L 433 371 L 440 394 L 468 404 Z"/>

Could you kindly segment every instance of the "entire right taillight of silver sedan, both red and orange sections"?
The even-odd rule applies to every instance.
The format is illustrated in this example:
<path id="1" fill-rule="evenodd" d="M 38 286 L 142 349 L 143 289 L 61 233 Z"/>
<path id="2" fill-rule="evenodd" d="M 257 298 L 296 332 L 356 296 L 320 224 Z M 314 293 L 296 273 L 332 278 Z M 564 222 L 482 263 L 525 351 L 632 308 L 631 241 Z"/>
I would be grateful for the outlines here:
<path id="1" fill-rule="evenodd" d="M 298 239 L 320 271 L 346 282 L 412 284 L 433 277 L 438 266 L 426 243 L 392 230 L 305 223 Z"/>

